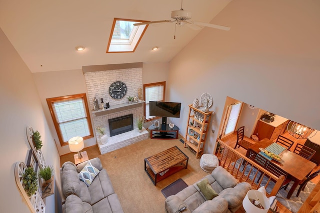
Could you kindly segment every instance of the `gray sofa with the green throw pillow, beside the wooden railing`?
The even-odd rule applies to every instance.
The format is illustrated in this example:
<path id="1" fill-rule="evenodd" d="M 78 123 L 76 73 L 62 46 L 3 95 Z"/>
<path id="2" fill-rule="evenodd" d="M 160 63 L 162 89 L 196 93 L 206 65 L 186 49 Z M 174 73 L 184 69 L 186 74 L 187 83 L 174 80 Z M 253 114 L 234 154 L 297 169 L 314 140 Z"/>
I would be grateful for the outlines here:
<path id="1" fill-rule="evenodd" d="M 208 179 L 212 189 L 218 194 L 212 200 L 206 200 L 197 183 Z M 234 213 L 241 205 L 246 193 L 252 189 L 248 183 L 238 183 L 236 179 L 221 166 L 197 183 L 190 185 L 165 200 L 167 213 L 176 213 L 187 207 L 183 213 Z"/>

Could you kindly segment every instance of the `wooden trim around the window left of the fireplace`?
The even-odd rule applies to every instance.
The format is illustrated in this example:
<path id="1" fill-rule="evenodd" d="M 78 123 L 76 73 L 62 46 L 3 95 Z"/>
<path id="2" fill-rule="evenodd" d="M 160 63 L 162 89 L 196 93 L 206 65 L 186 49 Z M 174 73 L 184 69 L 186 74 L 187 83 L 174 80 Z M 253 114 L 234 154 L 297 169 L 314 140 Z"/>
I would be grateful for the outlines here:
<path id="1" fill-rule="evenodd" d="M 55 114 L 53 112 L 52 103 L 56 102 L 56 101 L 65 101 L 65 100 L 78 99 L 78 98 L 81 98 L 83 100 L 83 102 L 84 102 L 85 112 L 86 112 L 86 115 L 87 115 L 86 116 L 86 120 L 88 122 L 88 128 L 89 128 L 89 132 L 90 132 L 90 135 L 87 135 L 87 136 L 83 137 L 83 140 L 89 139 L 89 138 L 93 138 L 94 136 L 93 136 L 93 129 L 92 129 L 91 118 L 90 118 L 90 111 L 89 111 L 89 107 L 88 107 L 88 104 L 87 104 L 87 99 L 86 99 L 86 94 L 85 93 L 75 94 L 75 95 L 65 95 L 65 96 L 47 98 L 46 99 L 46 103 L 47 103 L 47 105 L 49 107 L 49 111 L 50 111 L 50 114 L 51 114 L 51 117 L 52 117 L 54 128 L 55 128 L 55 131 L 56 131 L 56 134 L 58 136 L 58 139 L 59 139 L 59 142 L 60 142 L 61 146 L 68 145 L 68 142 L 64 142 L 62 140 L 61 131 L 60 131 L 59 125 L 57 123 L 57 119 L 55 117 Z"/>

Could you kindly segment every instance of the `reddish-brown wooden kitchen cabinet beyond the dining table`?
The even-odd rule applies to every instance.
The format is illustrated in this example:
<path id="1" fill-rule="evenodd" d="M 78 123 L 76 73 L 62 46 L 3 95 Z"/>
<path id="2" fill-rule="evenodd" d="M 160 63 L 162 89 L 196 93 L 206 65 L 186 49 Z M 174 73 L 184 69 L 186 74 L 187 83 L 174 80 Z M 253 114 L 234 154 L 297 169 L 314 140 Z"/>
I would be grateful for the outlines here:
<path id="1" fill-rule="evenodd" d="M 273 122 L 266 123 L 264 121 L 258 120 L 253 134 L 258 136 L 259 140 L 267 138 L 273 141 L 285 131 L 288 122 L 288 120 L 285 120 L 284 122 L 280 121 L 277 124 L 272 124 Z"/>

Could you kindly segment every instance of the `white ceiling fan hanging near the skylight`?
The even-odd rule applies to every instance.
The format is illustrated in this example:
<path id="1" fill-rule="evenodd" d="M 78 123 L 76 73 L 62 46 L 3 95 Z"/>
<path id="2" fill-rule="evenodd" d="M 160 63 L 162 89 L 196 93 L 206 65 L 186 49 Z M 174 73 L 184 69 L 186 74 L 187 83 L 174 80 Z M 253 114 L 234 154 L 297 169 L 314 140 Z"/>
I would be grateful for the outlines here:
<path id="1" fill-rule="evenodd" d="M 181 9 L 180 10 L 173 10 L 171 11 L 171 18 L 174 20 L 158 20 L 158 21 L 146 21 L 140 23 L 134 23 L 134 26 L 145 25 L 145 24 L 154 24 L 154 23 L 163 23 L 163 22 L 175 22 L 175 26 L 183 26 L 187 25 L 192 29 L 202 29 L 203 27 L 212 27 L 216 29 L 222 30 L 230 30 L 228 26 L 216 25 L 211 23 L 205 23 L 200 21 L 189 21 L 191 19 L 191 12 L 183 10 L 182 8 L 182 0 L 181 0 Z M 175 38 L 175 36 L 174 36 Z"/>

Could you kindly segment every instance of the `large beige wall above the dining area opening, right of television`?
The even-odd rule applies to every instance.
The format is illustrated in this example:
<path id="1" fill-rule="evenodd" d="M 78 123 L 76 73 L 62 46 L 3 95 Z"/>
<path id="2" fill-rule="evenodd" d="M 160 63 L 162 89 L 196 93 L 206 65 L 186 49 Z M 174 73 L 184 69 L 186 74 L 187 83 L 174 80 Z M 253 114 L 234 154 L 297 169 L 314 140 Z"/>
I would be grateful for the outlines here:
<path id="1" fill-rule="evenodd" d="M 214 130 L 226 96 L 320 129 L 319 8 L 314 0 L 231 1 L 211 21 L 230 31 L 204 28 L 171 60 L 169 99 L 187 106 L 210 93 Z M 186 109 L 181 116 L 184 135 Z M 216 133 L 205 152 L 213 152 Z"/>

